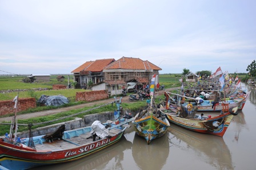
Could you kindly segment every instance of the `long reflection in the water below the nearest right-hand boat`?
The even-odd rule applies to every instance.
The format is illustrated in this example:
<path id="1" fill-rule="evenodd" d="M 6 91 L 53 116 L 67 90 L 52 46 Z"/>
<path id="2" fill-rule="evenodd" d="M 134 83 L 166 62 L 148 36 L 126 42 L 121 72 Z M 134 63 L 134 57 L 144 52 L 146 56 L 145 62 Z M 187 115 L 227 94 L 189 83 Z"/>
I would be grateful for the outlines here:
<path id="1" fill-rule="evenodd" d="M 234 169 L 231 154 L 222 137 L 195 133 L 173 125 L 168 131 L 172 134 L 170 143 L 179 149 L 192 149 L 193 154 L 205 160 L 216 169 Z"/>

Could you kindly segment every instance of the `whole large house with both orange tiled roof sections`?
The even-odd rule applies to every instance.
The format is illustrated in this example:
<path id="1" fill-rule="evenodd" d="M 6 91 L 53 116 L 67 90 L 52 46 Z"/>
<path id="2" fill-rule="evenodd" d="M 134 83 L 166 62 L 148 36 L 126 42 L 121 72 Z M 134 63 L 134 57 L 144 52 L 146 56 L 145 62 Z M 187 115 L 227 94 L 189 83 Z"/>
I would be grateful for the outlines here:
<path id="1" fill-rule="evenodd" d="M 102 65 L 99 63 L 102 62 Z M 99 66 L 103 66 L 100 67 Z M 118 60 L 103 59 L 82 64 L 72 72 L 74 80 L 81 84 L 87 84 L 92 80 L 92 90 L 107 90 L 111 95 L 122 94 L 122 88 L 126 88 L 127 82 L 137 82 L 138 87 L 149 84 L 154 74 L 159 75 L 158 66 L 148 60 L 125 57 Z M 97 73 L 97 76 L 94 76 Z M 94 77 L 93 77 L 94 76 Z"/>

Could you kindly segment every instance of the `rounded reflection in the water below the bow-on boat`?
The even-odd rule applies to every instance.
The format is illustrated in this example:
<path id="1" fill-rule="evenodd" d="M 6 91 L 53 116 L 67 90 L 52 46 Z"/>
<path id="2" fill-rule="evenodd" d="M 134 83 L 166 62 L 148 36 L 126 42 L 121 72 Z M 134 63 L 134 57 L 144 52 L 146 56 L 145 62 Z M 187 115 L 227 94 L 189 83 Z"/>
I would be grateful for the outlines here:
<path id="1" fill-rule="evenodd" d="M 145 139 L 134 135 L 132 155 L 139 169 L 162 169 L 169 156 L 168 134 L 151 141 L 150 145 Z"/>

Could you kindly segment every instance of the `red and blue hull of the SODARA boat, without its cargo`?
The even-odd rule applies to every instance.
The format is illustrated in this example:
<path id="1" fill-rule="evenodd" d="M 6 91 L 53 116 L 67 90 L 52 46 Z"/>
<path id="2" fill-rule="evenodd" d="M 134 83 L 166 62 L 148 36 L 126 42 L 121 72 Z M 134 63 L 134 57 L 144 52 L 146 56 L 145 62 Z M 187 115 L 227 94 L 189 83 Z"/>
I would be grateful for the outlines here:
<path id="1" fill-rule="evenodd" d="M 91 127 L 65 131 L 62 139 L 50 143 L 43 136 L 36 136 L 33 137 L 36 150 L 27 146 L 29 138 L 23 139 L 24 144 L 19 145 L 6 143 L 6 140 L 1 139 L 0 164 L 8 169 L 29 169 L 78 160 L 117 143 L 121 140 L 126 128 L 121 126 L 113 128 L 110 130 L 110 132 L 115 131 L 113 135 L 95 141 L 89 139 Z M 50 147 L 53 149 L 49 149 Z"/>

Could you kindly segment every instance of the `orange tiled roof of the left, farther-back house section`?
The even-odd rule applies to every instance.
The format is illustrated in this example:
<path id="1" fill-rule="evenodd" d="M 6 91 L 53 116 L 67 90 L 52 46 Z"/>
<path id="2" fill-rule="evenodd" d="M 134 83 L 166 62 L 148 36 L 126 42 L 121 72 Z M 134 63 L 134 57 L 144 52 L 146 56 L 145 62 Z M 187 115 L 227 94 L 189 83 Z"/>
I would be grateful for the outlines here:
<path id="1" fill-rule="evenodd" d="M 95 61 L 86 62 L 86 63 L 83 63 L 78 68 L 75 68 L 75 70 L 71 72 L 80 72 L 80 71 L 101 72 L 105 66 L 107 66 L 108 64 L 114 61 L 115 59 L 110 58 L 110 59 L 99 59 Z"/>

